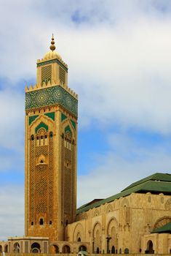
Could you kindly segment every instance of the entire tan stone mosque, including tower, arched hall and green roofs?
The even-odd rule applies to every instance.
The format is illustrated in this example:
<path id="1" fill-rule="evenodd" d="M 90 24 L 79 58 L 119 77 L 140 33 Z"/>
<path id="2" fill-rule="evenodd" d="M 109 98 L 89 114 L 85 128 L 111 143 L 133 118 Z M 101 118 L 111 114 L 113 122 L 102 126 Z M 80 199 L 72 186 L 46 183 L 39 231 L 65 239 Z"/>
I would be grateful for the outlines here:
<path id="1" fill-rule="evenodd" d="M 154 173 L 76 210 L 78 96 L 55 50 L 25 89 L 25 236 L 0 252 L 170 254 L 171 174 Z"/>

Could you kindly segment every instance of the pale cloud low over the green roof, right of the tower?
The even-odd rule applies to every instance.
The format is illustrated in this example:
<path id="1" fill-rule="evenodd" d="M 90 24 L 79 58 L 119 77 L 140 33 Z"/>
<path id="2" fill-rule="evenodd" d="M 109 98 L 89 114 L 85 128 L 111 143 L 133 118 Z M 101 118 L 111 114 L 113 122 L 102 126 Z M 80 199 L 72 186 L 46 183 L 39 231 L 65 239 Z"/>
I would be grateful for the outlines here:
<path id="1" fill-rule="evenodd" d="M 124 134 L 110 135 L 111 151 L 96 154 L 92 161 L 98 167 L 78 177 L 78 206 L 95 198 L 106 198 L 121 192 L 141 178 L 154 173 L 170 173 L 171 153 L 167 143 L 146 148 Z"/>

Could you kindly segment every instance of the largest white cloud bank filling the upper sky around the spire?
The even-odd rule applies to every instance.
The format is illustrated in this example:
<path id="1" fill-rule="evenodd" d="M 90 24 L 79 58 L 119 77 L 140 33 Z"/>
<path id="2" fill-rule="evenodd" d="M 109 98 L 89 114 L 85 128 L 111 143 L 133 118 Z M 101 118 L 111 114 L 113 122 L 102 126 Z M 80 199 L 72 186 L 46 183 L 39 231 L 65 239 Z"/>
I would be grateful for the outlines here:
<path id="1" fill-rule="evenodd" d="M 154 1 L 101 1 L 97 13 L 97 1 L 83 6 L 82 1 L 73 1 L 70 8 L 66 3 L 56 6 L 51 1 L 52 17 L 44 9 L 46 1 L 37 3 L 39 11 L 31 0 L 3 5 L 1 21 L 6 27 L 0 29 L 5 39 L 0 75 L 15 81 L 35 77 L 35 62 L 48 50 L 50 29 L 57 33 L 57 50 L 69 65 L 69 86 L 79 93 L 81 126 L 96 119 L 100 124 L 116 122 L 122 127 L 170 133 L 168 13 L 161 12 Z M 72 15 L 78 10 L 87 19 L 76 24 Z"/>

